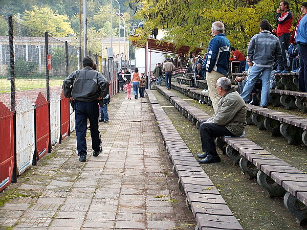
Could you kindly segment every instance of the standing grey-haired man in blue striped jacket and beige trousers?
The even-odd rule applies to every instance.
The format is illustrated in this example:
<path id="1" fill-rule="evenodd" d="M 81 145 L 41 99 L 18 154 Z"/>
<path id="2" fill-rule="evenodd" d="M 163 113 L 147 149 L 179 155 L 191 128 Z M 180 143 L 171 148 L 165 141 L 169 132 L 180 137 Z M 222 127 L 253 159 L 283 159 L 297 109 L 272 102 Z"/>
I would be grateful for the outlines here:
<path id="1" fill-rule="evenodd" d="M 227 77 L 228 60 L 230 56 L 230 43 L 226 38 L 225 27 L 221 21 L 212 23 L 213 38 L 210 40 L 206 60 L 203 63 L 203 73 L 206 75 L 209 97 L 212 101 L 214 112 L 220 96 L 215 89 L 217 79 Z"/>

